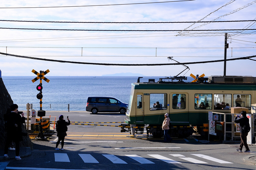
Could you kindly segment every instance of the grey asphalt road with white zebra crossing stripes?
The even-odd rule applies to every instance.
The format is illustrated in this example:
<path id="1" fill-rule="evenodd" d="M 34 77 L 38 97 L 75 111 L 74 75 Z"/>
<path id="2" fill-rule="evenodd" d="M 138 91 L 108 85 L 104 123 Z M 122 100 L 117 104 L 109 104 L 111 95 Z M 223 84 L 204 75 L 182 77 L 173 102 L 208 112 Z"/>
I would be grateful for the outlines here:
<path id="1" fill-rule="evenodd" d="M 51 121 L 52 117 L 59 117 L 60 114 L 64 118 L 68 115 L 71 122 L 122 122 L 125 118 L 125 115 L 118 113 L 50 114 Z M 163 143 L 163 138 L 143 134 L 132 137 L 128 132 L 120 133 L 119 127 L 106 126 L 70 125 L 67 133 L 64 151 L 54 150 L 56 135 L 46 141 L 33 140 L 32 155 L 19 161 L 11 160 L 7 169 L 255 169 L 255 165 L 243 160 L 248 155 L 256 155 L 255 145 L 249 146 L 252 152 L 240 153 L 235 150 L 239 144 L 222 144 L 220 141 L 205 144 L 200 142 L 202 138 L 197 135 L 186 139 L 174 138 L 172 143 Z"/>

